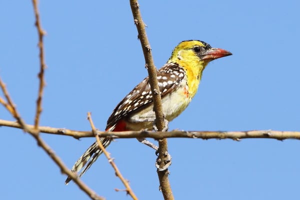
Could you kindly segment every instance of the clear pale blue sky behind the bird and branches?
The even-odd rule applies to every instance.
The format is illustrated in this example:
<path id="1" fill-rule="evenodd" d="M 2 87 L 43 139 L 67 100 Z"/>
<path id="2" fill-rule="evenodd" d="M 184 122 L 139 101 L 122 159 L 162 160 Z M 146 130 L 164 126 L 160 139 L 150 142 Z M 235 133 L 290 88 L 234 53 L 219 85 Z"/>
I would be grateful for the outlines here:
<path id="1" fill-rule="evenodd" d="M 212 61 L 198 93 L 170 124 L 184 130 L 300 130 L 300 26 L 296 0 L 140 1 L 154 63 L 181 40 L 200 39 L 232 56 Z M 128 1 L 43 1 L 46 87 L 41 125 L 104 129 L 111 111 L 146 75 Z M 30 1 L 0 1 L 0 76 L 33 123 L 38 48 Z M 0 106 L 0 118 L 14 120 Z M 0 199 L 88 199 L 21 130 L 0 127 Z M 94 141 L 42 134 L 71 167 Z M 300 141 L 168 140 L 176 199 L 298 199 Z M 154 152 L 136 139 L 107 148 L 139 199 L 162 199 Z M 106 199 L 130 199 L 104 156 L 82 177 Z"/>

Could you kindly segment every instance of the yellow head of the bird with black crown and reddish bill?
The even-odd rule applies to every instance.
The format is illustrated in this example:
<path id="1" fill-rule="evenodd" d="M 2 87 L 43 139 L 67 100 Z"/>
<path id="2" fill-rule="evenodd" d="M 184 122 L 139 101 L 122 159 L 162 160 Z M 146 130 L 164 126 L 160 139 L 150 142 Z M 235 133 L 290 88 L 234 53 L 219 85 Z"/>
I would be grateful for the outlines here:
<path id="1" fill-rule="evenodd" d="M 211 60 L 232 55 L 227 50 L 212 48 L 208 43 L 200 40 L 181 41 L 174 49 L 167 62 L 201 65 L 203 68 Z"/>

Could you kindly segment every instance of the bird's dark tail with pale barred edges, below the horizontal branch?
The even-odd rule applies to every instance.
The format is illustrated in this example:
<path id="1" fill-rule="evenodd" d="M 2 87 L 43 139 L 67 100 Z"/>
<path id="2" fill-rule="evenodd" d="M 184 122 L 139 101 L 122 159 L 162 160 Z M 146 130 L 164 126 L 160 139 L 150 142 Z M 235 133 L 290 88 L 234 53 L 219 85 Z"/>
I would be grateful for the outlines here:
<path id="1" fill-rule="evenodd" d="M 109 143 L 110 139 L 105 137 L 100 137 L 100 141 L 104 148 L 106 148 Z M 97 141 L 93 142 L 91 146 L 89 146 L 86 151 L 78 158 L 78 160 L 75 162 L 75 164 L 72 167 L 72 172 L 78 172 L 83 168 L 86 164 L 86 166 L 81 170 L 79 173 L 79 177 L 85 173 L 87 169 L 92 165 L 94 161 L 99 157 L 99 155 L 102 153 L 102 150 L 98 147 Z M 71 178 L 68 176 L 66 180 L 64 181 L 65 184 L 67 184 Z"/>

